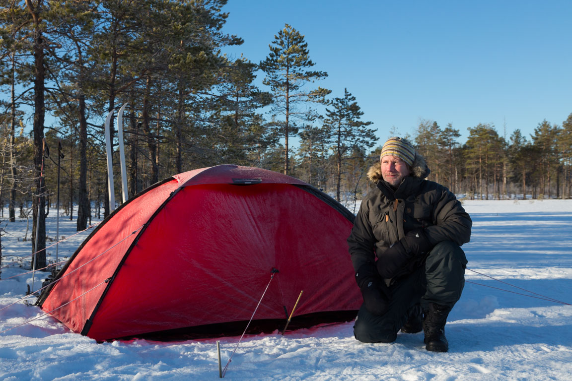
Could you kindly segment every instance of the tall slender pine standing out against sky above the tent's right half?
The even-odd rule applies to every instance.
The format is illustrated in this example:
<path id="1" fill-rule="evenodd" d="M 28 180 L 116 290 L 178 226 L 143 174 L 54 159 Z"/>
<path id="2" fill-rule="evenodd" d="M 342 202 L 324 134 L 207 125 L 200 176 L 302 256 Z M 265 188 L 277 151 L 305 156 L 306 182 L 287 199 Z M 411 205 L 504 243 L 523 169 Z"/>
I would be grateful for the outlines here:
<path id="1" fill-rule="evenodd" d="M 305 90 L 304 85 L 327 77 L 325 71 L 310 71 L 315 65 L 309 58 L 308 43 L 304 35 L 286 24 L 274 36 L 269 45 L 270 54 L 260 62 L 260 69 L 267 75 L 264 85 L 270 86 L 274 100 L 273 113 L 284 115 L 284 121 L 276 124 L 284 137 L 284 174 L 290 170 L 289 139 L 298 132 L 293 119 L 304 122 L 312 121 L 311 111 L 302 106 L 308 102 L 324 102 L 324 97 L 331 91 L 318 87 L 315 90 Z"/>

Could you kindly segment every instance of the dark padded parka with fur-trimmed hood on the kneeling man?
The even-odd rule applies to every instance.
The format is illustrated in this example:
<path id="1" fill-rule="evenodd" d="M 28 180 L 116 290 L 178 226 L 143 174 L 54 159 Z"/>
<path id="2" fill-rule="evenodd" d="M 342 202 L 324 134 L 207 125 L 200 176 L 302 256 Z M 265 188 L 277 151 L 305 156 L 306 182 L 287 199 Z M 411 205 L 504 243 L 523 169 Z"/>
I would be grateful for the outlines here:
<path id="1" fill-rule="evenodd" d="M 382 258 L 388 247 L 415 228 L 424 228 L 432 246 L 445 240 L 459 246 L 469 242 L 470 216 L 446 187 L 425 180 L 429 173 L 424 158 L 416 154 L 411 175 L 393 190 L 383 181 L 381 163 L 371 167 L 368 178 L 376 188 L 362 200 L 348 238 L 355 271 L 365 263 L 373 266 L 374 253 Z M 400 275 L 420 263 L 422 259 L 412 258 Z"/>

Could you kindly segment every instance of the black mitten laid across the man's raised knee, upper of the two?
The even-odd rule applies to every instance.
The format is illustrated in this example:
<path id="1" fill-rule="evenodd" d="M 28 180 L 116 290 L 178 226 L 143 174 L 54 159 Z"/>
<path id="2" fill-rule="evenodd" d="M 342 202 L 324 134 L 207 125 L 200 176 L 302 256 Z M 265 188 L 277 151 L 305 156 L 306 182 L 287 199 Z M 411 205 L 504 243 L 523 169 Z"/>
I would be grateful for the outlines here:
<path id="1" fill-rule="evenodd" d="M 394 278 L 407 263 L 420 254 L 430 251 L 431 243 L 422 228 L 411 230 L 380 256 L 377 267 L 382 278 Z"/>

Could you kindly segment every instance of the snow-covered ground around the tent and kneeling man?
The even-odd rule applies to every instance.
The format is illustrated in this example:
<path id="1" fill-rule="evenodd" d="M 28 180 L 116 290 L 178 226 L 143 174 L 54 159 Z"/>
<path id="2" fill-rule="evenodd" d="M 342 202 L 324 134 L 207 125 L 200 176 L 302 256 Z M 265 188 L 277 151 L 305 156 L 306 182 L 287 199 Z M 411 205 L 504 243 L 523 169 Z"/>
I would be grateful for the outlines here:
<path id="1" fill-rule="evenodd" d="M 467 283 L 446 326 L 449 352 L 426 351 L 422 333 L 400 333 L 392 344 L 363 344 L 353 338 L 348 322 L 284 336 L 245 336 L 225 378 L 571 379 L 572 306 L 546 299 L 572 303 L 572 200 L 466 200 L 463 205 L 474 225 L 471 242 L 463 246 L 469 260 Z M 54 239 L 53 211 L 47 224 L 47 235 Z M 25 220 L 2 226 L 6 266 L 29 255 L 31 244 L 22 241 Z M 59 228 L 61 236 L 69 237 L 75 222 L 62 216 Z M 59 258 L 69 258 L 89 232 L 59 244 Z M 55 247 L 48 252 L 53 260 Z M 29 258 L 22 262 L 29 266 Z M 43 315 L 19 300 L 26 284 L 31 286 L 31 274 L 7 279 L 26 271 L 18 264 L 2 269 L 0 308 L 6 308 L 0 311 L 0 331 Z M 34 288 L 40 284 L 36 277 Z M 217 340 L 224 367 L 238 337 L 98 344 L 43 316 L 0 334 L 0 380 L 214 380 L 219 379 Z"/>

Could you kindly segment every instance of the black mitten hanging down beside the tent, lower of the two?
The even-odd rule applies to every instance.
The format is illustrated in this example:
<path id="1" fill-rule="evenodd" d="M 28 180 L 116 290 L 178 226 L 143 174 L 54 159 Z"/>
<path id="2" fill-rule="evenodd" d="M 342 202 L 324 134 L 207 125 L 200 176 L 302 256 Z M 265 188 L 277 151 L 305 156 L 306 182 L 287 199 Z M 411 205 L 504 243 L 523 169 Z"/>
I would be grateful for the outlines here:
<path id="1" fill-rule="evenodd" d="M 362 290 L 363 304 L 374 315 L 383 315 L 390 301 L 390 290 L 375 270 L 375 265 L 363 264 L 356 272 L 356 282 Z"/>

